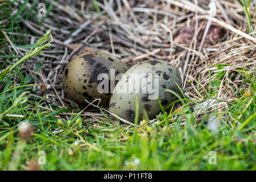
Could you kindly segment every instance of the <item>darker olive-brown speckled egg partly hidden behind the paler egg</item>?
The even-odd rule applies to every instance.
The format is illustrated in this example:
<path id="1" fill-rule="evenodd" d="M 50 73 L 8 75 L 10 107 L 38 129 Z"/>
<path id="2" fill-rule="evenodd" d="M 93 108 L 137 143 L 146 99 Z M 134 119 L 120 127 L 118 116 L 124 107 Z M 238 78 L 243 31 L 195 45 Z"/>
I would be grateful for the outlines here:
<path id="1" fill-rule="evenodd" d="M 89 51 L 76 56 L 64 69 L 65 92 L 77 104 L 86 104 L 84 100 L 91 102 L 101 98 L 100 106 L 108 106 L 111 96 L 110 82 L 115 82 L 114 77 L 110 77 L 110 69 L 114 70 L 115 75 L 127 71 L 125 63 L 105 52 Z M 101 73 L 106 73 L 109 77 L 108 93 L 98 92 L 98 84 L 103 81 L 103 78 L 98 79 Z"/>

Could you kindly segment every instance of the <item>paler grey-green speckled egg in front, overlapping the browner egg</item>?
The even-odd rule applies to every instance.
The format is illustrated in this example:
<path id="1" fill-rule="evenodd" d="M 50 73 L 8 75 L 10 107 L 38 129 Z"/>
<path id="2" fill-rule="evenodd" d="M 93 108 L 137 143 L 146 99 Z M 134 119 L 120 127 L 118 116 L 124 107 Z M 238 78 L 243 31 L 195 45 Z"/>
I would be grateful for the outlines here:
<path id="1" fill-rule="evenodd" d="M 138 94 L 139 120 L 147 117 L 153 119 L 162 111 L 158 99 L 163 108 L 177 99 L 166 89 L 181 94 L 175 82 L 182 88 L 180 73 L 166 61 L 148 60 L 135 64 L 115 86 L 109 111 L 127 121 L 134 122 L 135 95 Z"/>

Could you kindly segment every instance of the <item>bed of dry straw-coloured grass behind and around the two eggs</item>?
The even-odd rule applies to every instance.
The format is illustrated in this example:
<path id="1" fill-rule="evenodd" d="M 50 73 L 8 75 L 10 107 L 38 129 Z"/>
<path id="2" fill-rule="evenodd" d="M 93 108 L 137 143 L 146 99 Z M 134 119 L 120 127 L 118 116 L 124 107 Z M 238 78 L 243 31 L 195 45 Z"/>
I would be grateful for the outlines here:
<path id="1" fill-rule="evenodd" d="M 31 43 L 49 28 L 53 35 L 53 46 L 43 55 L 27 60 L 24 67 L 27 74 L 36 75 L 31 83 L 43 89 L 34 95 L 46 95 L 40 106 L 47 110 L 51 110 L 52 103 L 79 107 L 65 95 L 61 75 L 72 57 L 97 50 L 111 53 L 128 66 L 149 59 L 170 62 L 179 69 L 184 95 L 196 102 L 209 96 L 211 78 L 222 77 L 216 94 L 224 102 L 217 107 L 219 111 L 226 109 L 225 103 L 232 102 L 233 94 L 240 93 L 241 75 L 236 74 L 236 69 L 247 69 L 253 74 L 256 39 L 253 33 L 243 33 L 247 31 L 247 20 L 241 18 L 243 9 L 239 3 L 217 2 L 213 18 L 210 14 L 214 8 L 210 9 L 209 2 L 197 3 L 198 6 L 189 1 L 99 1 L 96 7 L 100 11 L 95 11 L 89 1 L 75 6 L 66 1 L 65 6 L 53 2 L 53 9 L 41 26 L 33 23 L 33 19 L 23 23 L 31 32 L 23 36 Z M 256 15 L 255 11 L 251 14 Z M 27 52 L 23 48 L 18 50 Z M 40 71 L 34 72 L 42 59 Z M 86 119 L 99 118 L 101 114 L 94 112 L 98 109 L 85 110 L 81 115 Z"/>

